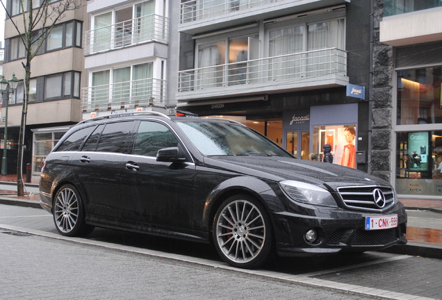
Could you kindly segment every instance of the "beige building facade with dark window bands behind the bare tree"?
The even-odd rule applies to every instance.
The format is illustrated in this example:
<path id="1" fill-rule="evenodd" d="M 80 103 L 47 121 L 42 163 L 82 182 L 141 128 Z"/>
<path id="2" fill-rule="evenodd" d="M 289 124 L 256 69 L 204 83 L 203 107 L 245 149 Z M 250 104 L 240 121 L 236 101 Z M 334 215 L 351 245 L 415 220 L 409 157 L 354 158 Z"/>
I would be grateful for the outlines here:
<path id="1" fill-rule="evenodd" d="M 34 7 L 38 1 L 34 1 Z M 17 149 L 19 126 L 22 119 L 24 98 L 24 67 L 26 63 L 24 44 L 20 34 L 24 34 L 22 10 L 19 0 L 8 0 L 7 9 L 11 18 L 5 22 L 5 52 L 3 76 L 9 79 L 15 74 L 20 80 L 12 93 L 3 92 L 1 108 L 1 149 L 6 145 L 8 174 L 17 174 Z M 27 3 L 24 9 L 27 9 Z M 13 22 L 18 24 L 17 32 Z M 69 125 L 81 121 L 81 86 L 85 86 L 84 56 L 82 48 L 83 28 L 88 28 L 86 8 L 67 11 L 54 26 L 47 40 L 38 51 L 31 64 L 29 105 L 24 133 L 24 161 L 31 164 L 32 174 L 39 175 L 44 158 L 56 142 L 69 129 Z M 35 28 L 39 31 L 41 28 Z M 4 141 L 6 121 L 6 101 L 8 101 L 8 135 Z M 3 153 L 2 153 L 3 154 Z"/>

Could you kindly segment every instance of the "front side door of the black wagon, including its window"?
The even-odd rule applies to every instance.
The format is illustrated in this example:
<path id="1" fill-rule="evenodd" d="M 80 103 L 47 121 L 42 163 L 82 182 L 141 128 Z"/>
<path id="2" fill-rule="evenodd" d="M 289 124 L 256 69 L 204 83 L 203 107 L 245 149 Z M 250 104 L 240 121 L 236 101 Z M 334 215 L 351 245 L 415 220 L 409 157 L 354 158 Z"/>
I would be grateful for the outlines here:
<path id="1" fill-rule="evenodd" d="M 195 164 L 190 159 L 180 163 L 156 161 L 159 149 L 181 147 L 177 136 L 166 124 L 141 121 L 133 141 L 132 153 L 124 158 L 121 185 L 124 202 L 134 201 L 134 219 L 191 228 Z"/>

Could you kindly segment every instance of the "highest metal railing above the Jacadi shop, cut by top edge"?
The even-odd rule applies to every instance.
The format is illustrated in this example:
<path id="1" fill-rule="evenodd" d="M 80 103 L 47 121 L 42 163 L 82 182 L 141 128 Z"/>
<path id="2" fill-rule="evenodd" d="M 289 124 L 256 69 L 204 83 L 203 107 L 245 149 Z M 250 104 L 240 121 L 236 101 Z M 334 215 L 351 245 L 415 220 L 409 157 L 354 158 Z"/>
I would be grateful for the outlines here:
<path id="1" fill-rule="evenodd" d="M 181 23 L 224 15 L 284 0 L 190 0 L 181 3 Z"/>

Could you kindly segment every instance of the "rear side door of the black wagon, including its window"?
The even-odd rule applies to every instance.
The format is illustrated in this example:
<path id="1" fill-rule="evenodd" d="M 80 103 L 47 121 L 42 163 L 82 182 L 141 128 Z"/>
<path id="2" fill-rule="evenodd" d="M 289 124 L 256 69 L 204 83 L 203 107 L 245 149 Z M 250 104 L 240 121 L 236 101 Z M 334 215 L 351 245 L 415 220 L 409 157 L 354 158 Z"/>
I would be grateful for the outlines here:
<path id="1" fill-rule="evenodd" d="M 120 199 L 120 175 L 136 122 L 101 124 L 75 153 L 74 174 L 88 203 L 88 213 L 124 217 L 130 210 Z"/>

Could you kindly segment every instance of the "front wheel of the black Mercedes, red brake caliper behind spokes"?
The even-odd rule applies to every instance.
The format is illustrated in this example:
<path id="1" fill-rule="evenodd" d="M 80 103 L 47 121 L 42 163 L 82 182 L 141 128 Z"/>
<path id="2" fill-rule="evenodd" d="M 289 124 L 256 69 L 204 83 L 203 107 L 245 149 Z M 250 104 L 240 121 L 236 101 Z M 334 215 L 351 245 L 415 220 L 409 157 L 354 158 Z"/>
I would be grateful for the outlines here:
<path id="1" fill-rule="evenodd" d="M 261 266 L 272 248 L 267 211 L 252 197 L 230 197 L 221 204 L 213 220 L 213 242 L 229 265 L 247 269 Z"/>

